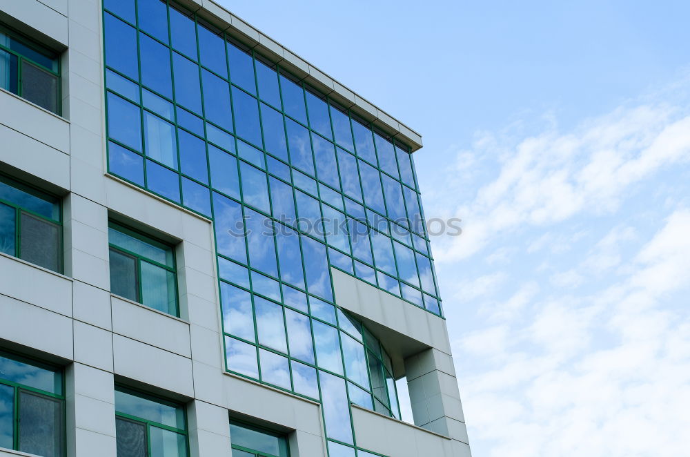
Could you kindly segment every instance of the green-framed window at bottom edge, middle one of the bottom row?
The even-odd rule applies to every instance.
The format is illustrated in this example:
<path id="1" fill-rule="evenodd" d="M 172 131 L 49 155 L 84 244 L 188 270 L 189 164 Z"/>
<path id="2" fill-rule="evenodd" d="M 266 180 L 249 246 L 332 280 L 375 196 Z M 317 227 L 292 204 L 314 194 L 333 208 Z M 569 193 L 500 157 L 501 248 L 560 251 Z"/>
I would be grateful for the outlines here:
<path id="1" fill-rule="evenodd" d="M 115 386 L 117 457 L 187 457 L 182 405 Z"/>

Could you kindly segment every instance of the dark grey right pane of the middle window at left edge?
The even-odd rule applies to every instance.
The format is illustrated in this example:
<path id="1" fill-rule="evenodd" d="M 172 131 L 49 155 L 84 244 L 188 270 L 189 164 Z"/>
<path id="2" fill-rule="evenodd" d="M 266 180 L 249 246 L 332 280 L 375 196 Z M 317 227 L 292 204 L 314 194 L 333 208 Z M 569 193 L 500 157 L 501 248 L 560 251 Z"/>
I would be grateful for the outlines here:
<path id="1" fill-rule="evenodd" d="M 52 271 L 60 271 L 60 227 L 21 213 L 19 252 L 21 258 Z"/>

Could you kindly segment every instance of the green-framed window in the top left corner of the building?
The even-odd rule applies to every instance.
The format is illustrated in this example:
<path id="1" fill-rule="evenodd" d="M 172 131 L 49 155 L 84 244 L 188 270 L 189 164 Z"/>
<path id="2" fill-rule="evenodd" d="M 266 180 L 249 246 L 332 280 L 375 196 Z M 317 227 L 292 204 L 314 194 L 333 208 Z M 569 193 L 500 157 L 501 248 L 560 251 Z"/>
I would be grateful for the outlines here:
<path id="1" fill-rule="evenodd" d="M 59 52 L 0 23 L 0 88 L 61 115 Z"/>

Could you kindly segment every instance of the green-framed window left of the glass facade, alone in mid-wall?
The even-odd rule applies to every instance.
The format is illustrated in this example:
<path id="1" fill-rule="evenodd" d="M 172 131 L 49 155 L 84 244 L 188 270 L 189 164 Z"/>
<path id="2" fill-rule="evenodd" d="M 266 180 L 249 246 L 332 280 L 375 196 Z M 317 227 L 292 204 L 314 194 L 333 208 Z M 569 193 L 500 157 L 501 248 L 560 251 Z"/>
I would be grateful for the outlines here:
<path id="1" fill-rule="evenodd" d="M 172 246 L 115 222 L 108 224 L 110 291 L 179 317 Z"/>

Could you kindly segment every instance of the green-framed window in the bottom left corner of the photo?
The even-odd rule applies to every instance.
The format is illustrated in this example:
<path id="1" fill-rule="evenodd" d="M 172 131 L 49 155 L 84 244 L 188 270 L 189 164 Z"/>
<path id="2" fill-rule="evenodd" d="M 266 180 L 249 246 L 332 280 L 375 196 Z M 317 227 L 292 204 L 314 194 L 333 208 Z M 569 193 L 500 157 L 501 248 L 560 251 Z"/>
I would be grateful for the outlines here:
<path id="1" fill-rule="evenodd" d="M 0 351 L 1 448 L 46 457 L 66 456 L 61 367 Z"/>

